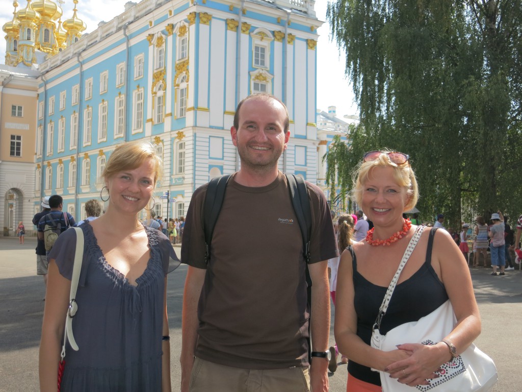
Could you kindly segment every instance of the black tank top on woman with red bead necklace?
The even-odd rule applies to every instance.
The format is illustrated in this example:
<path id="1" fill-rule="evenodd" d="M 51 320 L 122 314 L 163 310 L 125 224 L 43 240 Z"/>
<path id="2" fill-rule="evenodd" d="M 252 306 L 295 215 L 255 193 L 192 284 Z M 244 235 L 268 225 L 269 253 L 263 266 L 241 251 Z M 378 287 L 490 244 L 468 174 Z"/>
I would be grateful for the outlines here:
<path id="1" fill-rule="evenodd" d="M 447 301 L 446 289 L 431 266 L 431 251 L 435 232 L 436 228 L 432 228 L 430 231 L 428 249 L 426 249 L 426 261 L 411 278 L 397 284 L 395 287 L 388 310 L 379 329 L 383 335 L 386 335 L 390 329 L 405 322 L 417 321 Z M 364 279 L 357 271 L 355 253 L 351 247 L 348 247 L 348 250 L 352 255 L 357 336 L 366 344 L 370 344 L 372 327 L 388 287 L 377 286 Z M 405 343 L 409 342 L 405 341 Z M 381 385 L 378 372 L 374 372 L 369 367 L 360 365 L 357 362 L 348 361 L 348 372 L 353 377 L 366 383 Z"/>

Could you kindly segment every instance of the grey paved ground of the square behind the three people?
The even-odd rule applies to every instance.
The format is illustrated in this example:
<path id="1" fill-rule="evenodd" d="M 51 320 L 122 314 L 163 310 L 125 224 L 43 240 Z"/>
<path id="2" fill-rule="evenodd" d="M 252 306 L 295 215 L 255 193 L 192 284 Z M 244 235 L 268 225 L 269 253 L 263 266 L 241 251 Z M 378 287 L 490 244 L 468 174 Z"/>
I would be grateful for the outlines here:
<path id="1" fill-rule="evenodd" d="M 0 237 L 0 392 L 38 391 L 38 344 L 45 295 L 43 278 L 35 275 L 35 238 L 19 245 L 14 237 Z M 176 247 L 179 253 L 179 248 Z M 478 347 L 499 370 L 493 392 L 519 392 L 522 385 L 522 272 L 491 276 L 491 270 L 471 270 L 482 315 Z M 181 306 L 186 266 L 169 276 L 168 304 L 173 390 L 179 390 Z M 334 317 L 334 315 L 332 315 Z M 333 325 L 333 322 L 332 322 Z M 334 341 L 333 327 L 330 342 Z M 346 365 L 330 375 L 330 391 L 346 390 Z"/>

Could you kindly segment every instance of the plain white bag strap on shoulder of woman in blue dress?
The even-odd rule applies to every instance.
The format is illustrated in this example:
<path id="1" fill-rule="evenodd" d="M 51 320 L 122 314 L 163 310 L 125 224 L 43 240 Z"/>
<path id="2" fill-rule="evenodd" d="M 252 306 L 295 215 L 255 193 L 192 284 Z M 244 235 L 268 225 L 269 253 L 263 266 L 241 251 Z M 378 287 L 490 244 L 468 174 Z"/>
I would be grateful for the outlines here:
<path id="1" fill-rule="evenodd" d="M 73 335 L 73 317 L 78 310 L 76 303 L 76 290 L 78 289 L 78 281 L 80 279 L 81 262 L 84 258 L 84 232 L 79 227 L 73 227 L 76 232 L 76 252 L 74 255 L 73 276 L 70 280 L 69 309 L 65 316 L 64 344 L 62 346 L 62 359 L 65 357 L 65 343 L 69 339 L 70 347 L 74 351 L 78 351 L 78 344 Z"/>

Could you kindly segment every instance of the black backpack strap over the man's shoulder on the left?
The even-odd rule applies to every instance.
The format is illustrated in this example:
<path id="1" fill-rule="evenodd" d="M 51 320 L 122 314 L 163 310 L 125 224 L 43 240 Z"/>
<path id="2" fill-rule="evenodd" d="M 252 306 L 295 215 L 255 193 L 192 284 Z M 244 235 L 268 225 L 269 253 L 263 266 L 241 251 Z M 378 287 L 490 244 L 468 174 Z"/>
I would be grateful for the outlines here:
<path id="1" fill-rule="evenodd" d="M 218 221 L 221 205 L 225 198 L 225 190 L 227 183 L 232 175 L 226 174 L 221 177 L 215 177 L 208 183 L 207 193 L 205 194 L 205 204 L 203 210 L 203 229 L 205 232 L 205 262 L 208 264 L 210 260 L 210 242 L 214 227 Z"/>

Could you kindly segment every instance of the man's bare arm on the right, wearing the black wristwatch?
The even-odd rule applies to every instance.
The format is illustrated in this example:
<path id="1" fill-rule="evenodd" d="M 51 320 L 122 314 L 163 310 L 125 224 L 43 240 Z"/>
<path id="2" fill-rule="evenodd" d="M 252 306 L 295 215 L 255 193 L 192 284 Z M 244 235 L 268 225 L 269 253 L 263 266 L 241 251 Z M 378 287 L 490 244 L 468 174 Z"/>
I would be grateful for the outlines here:
<path id="1" fill-rule="evenodd" d="M 311 338 L 312 351 L 328 351 L 330 336 L 330 288 L 328 261 L 309 264 L 312 278 Z M 314 392 L 328 392 L 328 360 L 312 357 L 310 384 Z"/>

